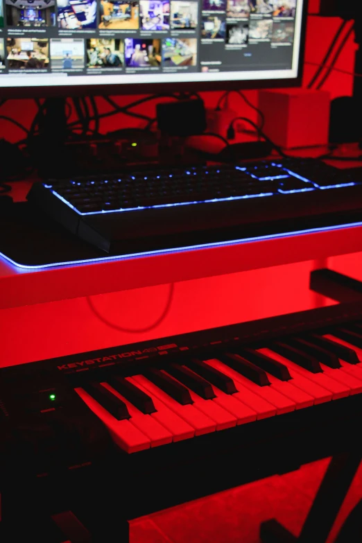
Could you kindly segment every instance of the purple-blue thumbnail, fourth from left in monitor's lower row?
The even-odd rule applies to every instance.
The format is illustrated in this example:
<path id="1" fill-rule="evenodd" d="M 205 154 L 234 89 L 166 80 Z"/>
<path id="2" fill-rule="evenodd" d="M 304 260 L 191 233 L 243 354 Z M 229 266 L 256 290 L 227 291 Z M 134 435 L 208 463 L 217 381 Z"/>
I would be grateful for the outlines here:
<path id="1" fill-rule="evenodd" d="M 161 65 L 161 41 L 126 37 L 124 57 L 128 68 L 156 68 Z"/>

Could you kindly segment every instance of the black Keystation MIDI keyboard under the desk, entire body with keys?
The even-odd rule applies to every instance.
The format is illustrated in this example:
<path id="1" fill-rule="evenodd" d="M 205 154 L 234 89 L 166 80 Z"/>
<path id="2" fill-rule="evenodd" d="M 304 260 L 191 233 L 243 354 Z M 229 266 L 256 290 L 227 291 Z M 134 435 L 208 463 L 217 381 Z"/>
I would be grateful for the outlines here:
<path id="1" fill-rule="evenodd" d="M 1 369 L 1 524 L 26 505 L 126 543 L 130 519 L 360 451 L 361 319 L 358 298 Z"/>

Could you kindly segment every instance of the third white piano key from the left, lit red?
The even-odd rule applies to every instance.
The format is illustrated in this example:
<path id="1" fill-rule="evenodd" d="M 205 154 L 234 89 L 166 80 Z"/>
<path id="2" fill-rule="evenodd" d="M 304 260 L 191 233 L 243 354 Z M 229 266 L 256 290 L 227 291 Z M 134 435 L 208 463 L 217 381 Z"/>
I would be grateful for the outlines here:
<path id="1" fill-rule="evenodd" d="M 195 436 L 195 430 L 192 426 L 187 424 L 181 417 L 178 417 L 171 409 L 169 409 L 166 404 L 160 402 L 160 400 L 153 396 L 151 393 L 148 393 L 148 390 L 144 388 L 140 383 L 137 383 L 133 377 L 126 377 L 127 381 L 132 383 L 134 386 L 137 386 L 139 390 L 142 390 L 145 394 L 149 394 L 153 404 L 156 408 L 156 412 L 152 414 L 152 417 L 160 422 L 164 428 L 169 430 L 173 436 L 173 442 L 190 439 Z"/>

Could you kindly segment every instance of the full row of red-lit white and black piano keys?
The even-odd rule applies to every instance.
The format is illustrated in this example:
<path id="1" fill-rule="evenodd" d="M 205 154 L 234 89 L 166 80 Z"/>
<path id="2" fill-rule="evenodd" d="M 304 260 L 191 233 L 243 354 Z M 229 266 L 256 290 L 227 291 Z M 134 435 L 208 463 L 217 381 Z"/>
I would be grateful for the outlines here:
<path id="1" fill-rule="evenodd" d="M 362 324 L 354 334 L 350 341 L 362 342 Z M 293 336 L 257 350 L 230 346 L 213 358 L 185 353 L 170 368 L 75 390 L 114 442 L 134 453 L 362 393 L 362 349 L 338 335 Z"/>

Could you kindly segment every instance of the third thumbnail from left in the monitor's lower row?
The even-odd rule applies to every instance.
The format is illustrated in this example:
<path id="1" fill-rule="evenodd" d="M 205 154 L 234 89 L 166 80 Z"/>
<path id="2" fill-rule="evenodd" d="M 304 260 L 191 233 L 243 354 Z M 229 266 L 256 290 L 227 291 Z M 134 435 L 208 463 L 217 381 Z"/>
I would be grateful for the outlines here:
<path id="1" fill-rule="evenodd" d="M 123 68 L 123 40 L 87 40 L 87 68 Z"/>

